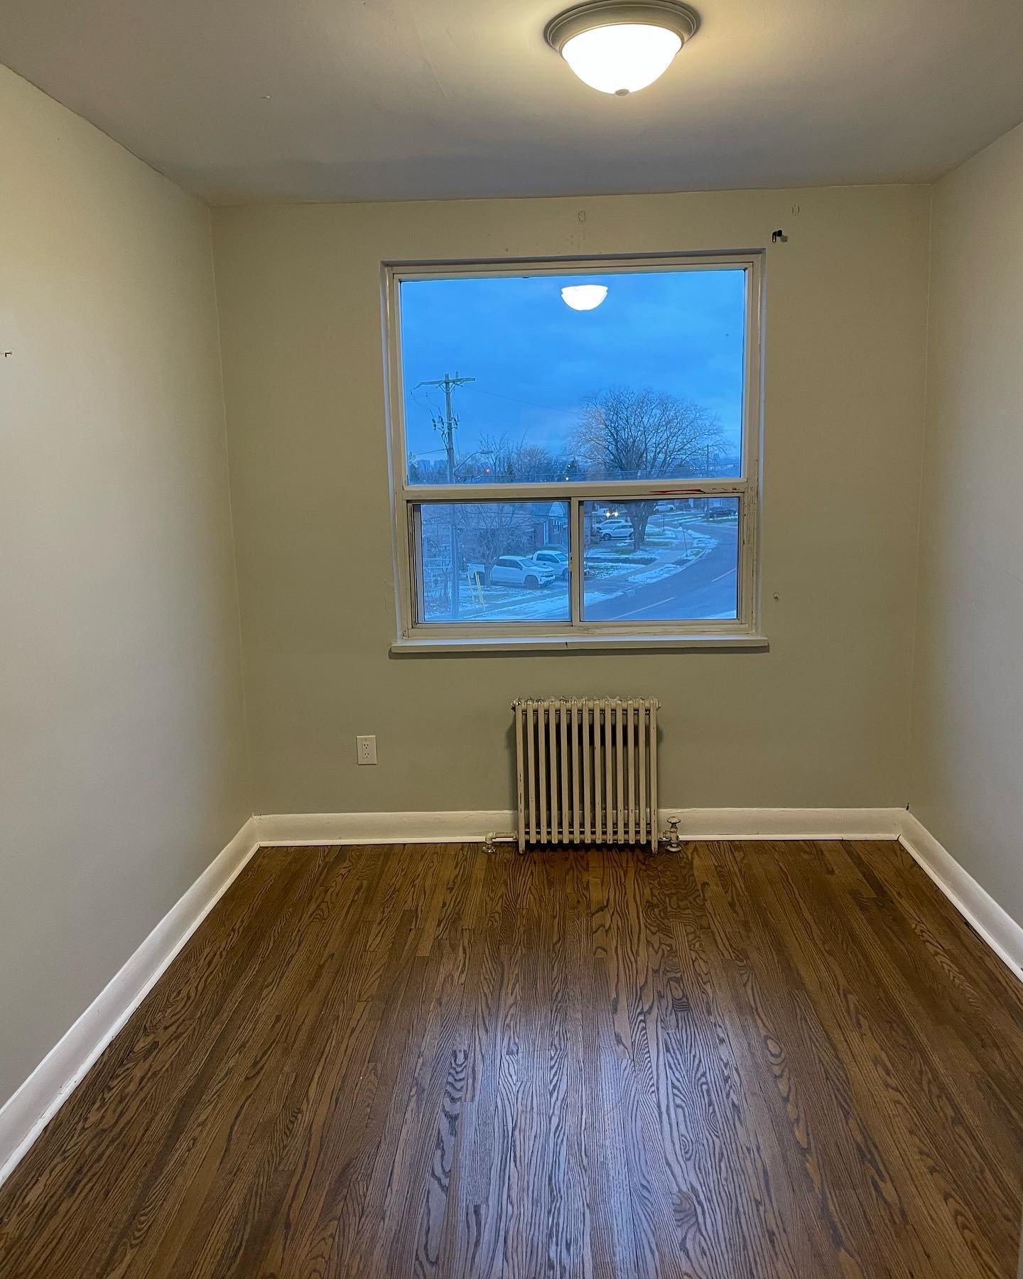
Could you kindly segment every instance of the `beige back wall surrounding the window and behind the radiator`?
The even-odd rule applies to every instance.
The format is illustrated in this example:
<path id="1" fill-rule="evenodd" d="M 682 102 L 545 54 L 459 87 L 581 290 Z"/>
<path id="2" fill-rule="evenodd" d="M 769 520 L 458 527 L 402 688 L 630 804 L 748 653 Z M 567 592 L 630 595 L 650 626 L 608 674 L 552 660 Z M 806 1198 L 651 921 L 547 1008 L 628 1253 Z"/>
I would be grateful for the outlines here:
<path id="1" fill-rule="evenodd" d="M 922 187 L 215 211 L 257 810 L 510 807 L 510 700 L 584 692 L 661 698 L 669 804 L 904 804 L 927 219 Z M 777 226 L 770 652 L 390 657 L 381 260 L 752 248 Z"/>

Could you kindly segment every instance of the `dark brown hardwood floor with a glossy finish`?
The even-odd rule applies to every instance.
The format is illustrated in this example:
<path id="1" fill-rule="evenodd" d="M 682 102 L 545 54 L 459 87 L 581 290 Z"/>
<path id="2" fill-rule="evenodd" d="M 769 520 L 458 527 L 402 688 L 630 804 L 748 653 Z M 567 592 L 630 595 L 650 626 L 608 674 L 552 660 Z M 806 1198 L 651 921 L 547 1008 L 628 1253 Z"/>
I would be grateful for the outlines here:
<path id="1" fill-rule="evenodd" d="M 260 852 L 4 1279 L 1015 1276 L 1020 986 L 891 843 Z"/>

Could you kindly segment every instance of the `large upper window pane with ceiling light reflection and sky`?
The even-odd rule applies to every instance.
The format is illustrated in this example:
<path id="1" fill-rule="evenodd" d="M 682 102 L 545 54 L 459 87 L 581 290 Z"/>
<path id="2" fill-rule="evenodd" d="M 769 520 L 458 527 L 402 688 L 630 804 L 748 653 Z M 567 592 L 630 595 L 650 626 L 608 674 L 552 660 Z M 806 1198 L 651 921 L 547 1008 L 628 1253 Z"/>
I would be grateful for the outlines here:
<path id="1" fill-rule="evenodd" d="M 409 483 L 740 475 L 742 267 L 400 289 Z"/>

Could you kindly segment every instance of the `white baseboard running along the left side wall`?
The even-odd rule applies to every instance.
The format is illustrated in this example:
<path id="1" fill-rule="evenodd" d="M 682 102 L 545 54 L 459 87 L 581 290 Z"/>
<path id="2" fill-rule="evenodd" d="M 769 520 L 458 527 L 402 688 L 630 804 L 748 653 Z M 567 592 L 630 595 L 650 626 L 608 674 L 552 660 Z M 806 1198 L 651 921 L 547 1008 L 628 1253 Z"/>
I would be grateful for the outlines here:
<path id="1" fill-rule="evenodd" d="M 249 819 L 0 1109 L 0 1184 L 257 848 Z"/>

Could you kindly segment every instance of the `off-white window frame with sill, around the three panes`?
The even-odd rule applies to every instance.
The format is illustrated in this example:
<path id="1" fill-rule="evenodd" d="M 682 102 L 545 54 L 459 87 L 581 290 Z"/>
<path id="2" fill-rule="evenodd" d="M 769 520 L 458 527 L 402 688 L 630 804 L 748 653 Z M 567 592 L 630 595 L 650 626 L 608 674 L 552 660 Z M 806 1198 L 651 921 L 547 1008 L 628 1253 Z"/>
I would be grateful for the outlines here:
<path id="1" fill-rule="evenodd" d="M 762 251 L 737 253 L 679 253 L 657 257 L 504 258 L 499 262 L 387 262 L 384 263 L 384 327 L 389 463 L 394 517 L 395 582 L 399 640 L 393 648 L 588 648 L 646 647 L 763 647 L 760 623 L 760 485 L 761 485 L 761 308 Z M 402 373 L 402 284 L 405 280 L 444 280 L 468 276 L 586 275 L 634 271 L 703 271 L 720 267 L 746 271 L 747 306 L 743 382 L 742 476 L 669 480 L 565 481 L 545 483 L 410 485 L 404 422 Z M 738 609 L 733 620 L 687 622 L 586 622 L 583 620 L 583 503 L 625 501 L 629 498 L 738 498 L 739 563 Z M 569 622 L 421 622 L 422 545 L 418 508 L 430 503 L 464 501 L 566 501 L 569 504 Z"/>

